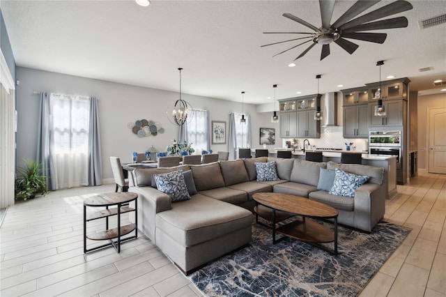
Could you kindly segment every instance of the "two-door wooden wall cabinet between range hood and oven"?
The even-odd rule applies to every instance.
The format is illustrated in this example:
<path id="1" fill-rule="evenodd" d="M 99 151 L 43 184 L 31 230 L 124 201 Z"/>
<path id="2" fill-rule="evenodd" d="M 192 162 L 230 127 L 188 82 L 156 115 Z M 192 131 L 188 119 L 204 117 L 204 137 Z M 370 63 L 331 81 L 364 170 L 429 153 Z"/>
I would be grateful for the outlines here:
<path id="1" fill-rule="evenodd" d="M 367 104 L 351 105 L 343 107 L 344 138 L 367 138 L 369 137 L 369 125 L 367 122 L 369 106 Z"/>

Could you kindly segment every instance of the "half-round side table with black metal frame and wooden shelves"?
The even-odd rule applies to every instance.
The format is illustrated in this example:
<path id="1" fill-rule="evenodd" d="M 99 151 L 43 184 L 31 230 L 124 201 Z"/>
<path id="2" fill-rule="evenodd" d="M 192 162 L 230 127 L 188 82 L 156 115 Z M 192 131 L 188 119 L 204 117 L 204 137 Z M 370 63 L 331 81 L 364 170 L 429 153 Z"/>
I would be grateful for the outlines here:
<path id="1" fill-rule="evenodd" d="M 93 250 L 98 250 L 100 248 L 105 248 L 107 246 L 112 245 L 117 252 L 121 252 L 121 243 L 125 241 L 130 241 L 131 239 L 138 237 L 138 206 L 137 206 L 137 193 L 132 192 L 114 192 L 114 193 L 105 193 L 100 195 L 95 195 L 93 197 L 87 198 L 84 200 L 84 253 L 91 252 Z M 129 203 L 134 201 L 134 208 L 129 206 Z M 105 207 L 100 211 L 96 211 L 95 213 L 91 213 L 90 215 L 86 214 L 86 206 L 91 207 Z M 116 207 L 109 207 L 116 206 Z M 129 213 L 134 211 L 134 223 L 125 224 L 121 226 L 121 213 Z M 118 224 L 116 228 L 109 229 L 109 217 L 112 215 L 117 215 Z M 86 223 L 92 220 L 98 220 L 105 218 L 105 230 L 99 231 L 93 234 L 86 234 Z M 126 238 L 122 238 L 127 234 L 130 234 L 134 231 L 134 235 Z M 105 243 L 104 245 L 100 245 L 95 248 L 87 249 L 86 248 L 86 239 L 89 238 L 93 241 L 106 241 L 109 243 Z M 114 240 L 116 238 L 116 240 Z"/>

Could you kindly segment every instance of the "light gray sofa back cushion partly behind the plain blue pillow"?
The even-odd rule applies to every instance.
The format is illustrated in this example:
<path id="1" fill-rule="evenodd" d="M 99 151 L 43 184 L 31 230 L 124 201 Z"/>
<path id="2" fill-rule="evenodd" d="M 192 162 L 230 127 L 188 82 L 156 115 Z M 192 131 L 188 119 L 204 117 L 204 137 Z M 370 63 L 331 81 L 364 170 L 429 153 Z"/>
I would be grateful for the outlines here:
<path id="1" fill-rule="evenodd" d="M 319 169 L 327 168 L 326 166 L 327 163 L 325 162 L 312 162 L 295 159 L 290 181 L 314 185 L 316 187 L 319 182 Z"/>

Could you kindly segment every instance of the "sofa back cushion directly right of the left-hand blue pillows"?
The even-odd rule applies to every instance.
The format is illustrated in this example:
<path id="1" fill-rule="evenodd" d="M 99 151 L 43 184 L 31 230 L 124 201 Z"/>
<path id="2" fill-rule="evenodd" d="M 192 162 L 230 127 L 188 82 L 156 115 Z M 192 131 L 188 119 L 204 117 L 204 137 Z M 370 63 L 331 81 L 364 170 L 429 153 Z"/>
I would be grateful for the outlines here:
<path id="1" fill-rule="evenodd" d="M 209 163 L 205 165 L 192 165 L 192 176 L 194 176 L 194 183 L 197 191 L 223 188 L 224 179 L 220 164 Z"/>

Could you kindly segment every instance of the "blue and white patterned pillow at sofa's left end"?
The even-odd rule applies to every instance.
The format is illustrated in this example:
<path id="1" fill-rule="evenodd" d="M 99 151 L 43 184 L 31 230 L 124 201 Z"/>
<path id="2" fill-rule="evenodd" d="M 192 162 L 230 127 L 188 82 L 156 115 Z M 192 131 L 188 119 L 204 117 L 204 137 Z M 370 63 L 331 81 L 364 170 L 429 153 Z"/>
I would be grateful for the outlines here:
<path id="1" fill-rule="evenodd" d="M 157 189 L 169 195 L 172 202 L 190 199 L 181 169 L 165 174 L 153 174 L 153 178 L 155 178 Z"/>

